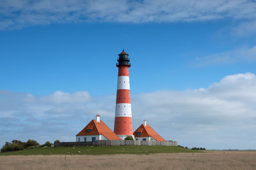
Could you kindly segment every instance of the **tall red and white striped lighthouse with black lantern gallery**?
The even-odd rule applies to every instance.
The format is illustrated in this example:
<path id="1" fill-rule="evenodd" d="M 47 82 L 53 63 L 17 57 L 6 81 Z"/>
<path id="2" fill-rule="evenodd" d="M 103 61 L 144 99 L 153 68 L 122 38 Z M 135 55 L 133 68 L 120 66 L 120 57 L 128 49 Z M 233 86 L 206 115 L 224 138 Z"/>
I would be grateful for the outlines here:
<path id="1" fill-rule="evenodd" d="M 127 53 L 119 54 L 118 63 L 118 81 L 116 92 L 116 113 L 115 113 L 115 128 L 114 132 L 119 138 L 124 139 L 132 134 L 132 110 L 130 96 L 130 81 L 129 81 L 129 63 Z"/>

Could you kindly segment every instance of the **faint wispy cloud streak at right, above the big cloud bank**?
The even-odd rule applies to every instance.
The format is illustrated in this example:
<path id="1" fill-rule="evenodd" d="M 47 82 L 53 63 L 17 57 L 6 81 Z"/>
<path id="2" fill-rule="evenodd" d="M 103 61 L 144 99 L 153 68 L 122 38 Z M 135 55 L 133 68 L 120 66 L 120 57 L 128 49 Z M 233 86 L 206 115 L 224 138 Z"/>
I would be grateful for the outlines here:
<path id="1" fill-rule="evenodd" d="M 208 66 L 216 64 L 230 64 L 235 62 L 248 62 L 256 60 L 256 45 L 239 48 L 228 52 L 213 53 L 205 57 L 196 57 L 194 66 Z"/>

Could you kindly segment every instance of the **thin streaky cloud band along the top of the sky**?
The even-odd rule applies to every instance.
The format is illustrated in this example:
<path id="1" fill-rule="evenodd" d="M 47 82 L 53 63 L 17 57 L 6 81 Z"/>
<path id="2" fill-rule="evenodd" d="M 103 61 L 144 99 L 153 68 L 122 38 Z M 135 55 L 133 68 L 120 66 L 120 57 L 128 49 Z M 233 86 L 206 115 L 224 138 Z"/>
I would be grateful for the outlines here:
<path id="1" fill-rule="evenodd" d="M 253 1 L 4 0 L 1 29 L 68 22 L 195 22 L 222 18 L 254 20 Z"/>

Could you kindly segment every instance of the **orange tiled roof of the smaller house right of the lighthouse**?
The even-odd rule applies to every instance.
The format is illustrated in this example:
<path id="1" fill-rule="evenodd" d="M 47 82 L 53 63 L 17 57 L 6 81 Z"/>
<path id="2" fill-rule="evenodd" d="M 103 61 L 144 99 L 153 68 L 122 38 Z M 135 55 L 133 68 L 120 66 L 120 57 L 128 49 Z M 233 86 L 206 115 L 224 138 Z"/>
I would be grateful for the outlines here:
<path id="1" fill-rule="evenodd" d="M 141 135 L 138 136 L 137 132 L 141 132 Z M 165 141 L 159 134 L 150 125 L 141 124 L 140 127 L 133 133 L 134 137 L 152 137 L 156 139 L 156 141 Z"/>

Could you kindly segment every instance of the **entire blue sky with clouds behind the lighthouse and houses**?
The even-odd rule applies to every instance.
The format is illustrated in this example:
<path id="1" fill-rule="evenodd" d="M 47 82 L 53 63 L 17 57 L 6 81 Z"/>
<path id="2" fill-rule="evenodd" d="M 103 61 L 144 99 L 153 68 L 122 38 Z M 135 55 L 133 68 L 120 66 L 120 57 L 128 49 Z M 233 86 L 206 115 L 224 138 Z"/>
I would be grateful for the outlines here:
<path id="1" fill-rule="evenodd" d="M 256 149 L 256 1 L 0 1 L 0 145 L 113 129 L 118 53 L 133 128 L 209 149 Z"/>

